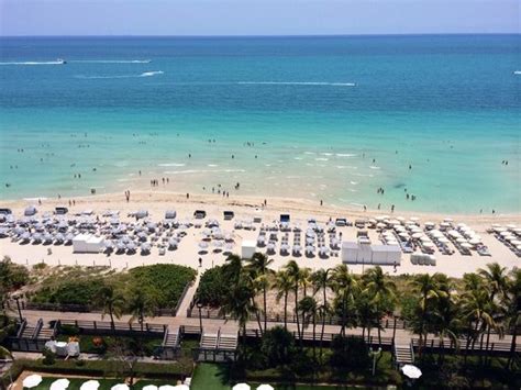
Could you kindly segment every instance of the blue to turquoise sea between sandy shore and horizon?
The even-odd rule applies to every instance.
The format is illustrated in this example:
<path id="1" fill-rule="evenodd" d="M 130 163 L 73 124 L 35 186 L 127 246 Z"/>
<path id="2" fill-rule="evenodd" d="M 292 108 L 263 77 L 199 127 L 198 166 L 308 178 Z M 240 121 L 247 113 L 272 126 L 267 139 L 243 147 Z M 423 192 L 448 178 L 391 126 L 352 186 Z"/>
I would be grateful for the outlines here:
<path id="1" fill-rule="evenodd" d="M 142 170 L 182 192 L 519 212 L 519 37 L 0 38 L 0 197 Z"/>

